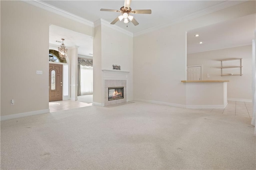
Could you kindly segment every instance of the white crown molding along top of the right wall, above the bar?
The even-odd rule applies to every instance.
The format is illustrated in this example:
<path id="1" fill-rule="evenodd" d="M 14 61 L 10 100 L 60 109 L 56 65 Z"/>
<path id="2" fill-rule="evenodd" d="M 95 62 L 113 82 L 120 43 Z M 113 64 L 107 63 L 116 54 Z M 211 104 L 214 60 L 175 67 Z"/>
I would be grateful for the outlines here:
<path id="1" fill-rule="evenodd" d="M 219 4 L 216 4 L 214 6 L 210 6 L 208 8 L 204 8 L 202 10 L 199 10 L 197 12 L 193 12 L 191 14 L 188 14 L 182 18 L 178 18 L 177 20 L 174 20 L 170 23 L 166 23 L 166 24 L 163 24 L 163 25 L 160 25 L 160 26 L 156 26 L 156 27 L 152 27 L 152 28 L 148 28 L 146 30 L 143 30 L 143 31 L 140 31 L 140 32 L 137 32 L 137 33 L 134 33 L 133 36 L 140 36 L 140 35 L 143 35 L 143 34 L 147 34 L 147 33 L 150 33 L 150 32 L 153 32 L 153 31 L 156 31 L 156 30 L 159 30 L 161 28 L 166 28 L 168 26 L 173 26 L 175 24 L 178 24 L 178 23 L 181 23 L 181 22 L 184 22 L 184 21 L 188 21 L 188 20 L 191 20 L 191 19 L 194 19 L 194 18 L 197 18 L 197 17 L 200 17 L 200 16 L 203 16 L 203 15 L 206 15 L 206 14 L 210 14 L 212 12 L 215 12 L 215 11 L 218 11 L 218 10 L 222 10 L 224 8 L 228 8 L 230 6 L 234 6 L 234 5 L 237 5 L 237 4 L 241 4 L 243 2 L 246 2 L 246 1 L 237 1 L 237 0 L 227 0 L 227 1 L 224 1 L 224 2 L 221 2 Z"/>

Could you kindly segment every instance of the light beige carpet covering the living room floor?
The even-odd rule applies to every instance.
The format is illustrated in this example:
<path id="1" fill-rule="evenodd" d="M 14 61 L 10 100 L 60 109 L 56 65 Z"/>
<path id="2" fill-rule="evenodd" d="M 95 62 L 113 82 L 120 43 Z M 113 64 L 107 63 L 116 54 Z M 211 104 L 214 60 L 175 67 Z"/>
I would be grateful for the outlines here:
<path id="1" fill-rule="evenodd" d="M 143 102 L 1 122 L 1 169 L 256 169 L 250 118 Z"/>

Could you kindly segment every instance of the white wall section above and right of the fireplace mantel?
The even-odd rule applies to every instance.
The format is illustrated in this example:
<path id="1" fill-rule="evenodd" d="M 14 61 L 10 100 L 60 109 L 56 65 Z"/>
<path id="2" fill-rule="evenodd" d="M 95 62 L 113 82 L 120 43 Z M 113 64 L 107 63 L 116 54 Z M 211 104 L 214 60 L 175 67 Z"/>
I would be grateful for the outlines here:
<path id="1" fill-rule="evenodd" d="M 132 36 L 102 25 L 102 69 L 112 70 L 112 65 L 120 65 L 127 75 L 127 101 L 133 100 Z"/>

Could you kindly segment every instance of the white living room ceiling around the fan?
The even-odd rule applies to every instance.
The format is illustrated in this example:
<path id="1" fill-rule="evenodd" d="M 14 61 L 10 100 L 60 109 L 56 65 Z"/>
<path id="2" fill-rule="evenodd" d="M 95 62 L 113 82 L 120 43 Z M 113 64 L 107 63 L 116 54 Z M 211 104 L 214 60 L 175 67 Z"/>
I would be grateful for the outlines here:
<path id="1" fill-rule="evenodd" d="M 124 6 L 124 0 L 50 0 L 42 2 L 92 22 L 96 22 L 100 18 L 108 22 L 112 22 L 120 15 L 120 13 L 105 12 L 100 11 L 100 9 L 106 8 L 119 10 L 122 6 Z M 126 27 L 126 24 L 120 21 L 118 21 L 116 25 L 129 32 L 137 33 L 148 28 L 173 22 L 174 20 L 222 2 L 224 1 L 132 0 L 130 4 L 132 10 L 151 9 L 152 14 L 133 14 L 134 18 L 140 23 L 138 26 L 128 23 L 128 27 Z"/>

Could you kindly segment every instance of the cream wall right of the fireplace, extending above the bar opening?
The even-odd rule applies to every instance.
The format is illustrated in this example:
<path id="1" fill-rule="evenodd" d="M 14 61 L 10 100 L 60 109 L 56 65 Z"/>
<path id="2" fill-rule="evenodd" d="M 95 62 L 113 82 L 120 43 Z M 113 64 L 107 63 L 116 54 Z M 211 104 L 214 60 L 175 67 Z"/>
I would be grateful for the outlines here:
<path id="1" fill-rule="evenodd" d="M 134 99 L 186 105 L 186 31 L 254 13 L 247 1 L 134 37 Z"/>

